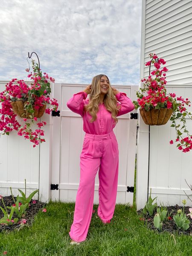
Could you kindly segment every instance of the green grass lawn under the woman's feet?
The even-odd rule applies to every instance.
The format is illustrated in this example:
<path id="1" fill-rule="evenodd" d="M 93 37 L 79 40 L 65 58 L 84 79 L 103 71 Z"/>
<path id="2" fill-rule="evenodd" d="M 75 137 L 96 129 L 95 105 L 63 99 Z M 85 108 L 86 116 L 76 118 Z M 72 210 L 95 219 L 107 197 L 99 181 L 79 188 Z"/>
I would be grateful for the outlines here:
<path id="1" fill-rule="evenodd" d="M 135 195 L 134 195 L 135 198 Z M 49 202 L 32 227 L 0 233 L 0 255 L 7 256 L 191 256 L 192 237 L 156 233 L 130 207 L 116 204 L 111 223 L 103 225 L 94 205 L 87 240 L 70 244 L 75 203 Z"/>

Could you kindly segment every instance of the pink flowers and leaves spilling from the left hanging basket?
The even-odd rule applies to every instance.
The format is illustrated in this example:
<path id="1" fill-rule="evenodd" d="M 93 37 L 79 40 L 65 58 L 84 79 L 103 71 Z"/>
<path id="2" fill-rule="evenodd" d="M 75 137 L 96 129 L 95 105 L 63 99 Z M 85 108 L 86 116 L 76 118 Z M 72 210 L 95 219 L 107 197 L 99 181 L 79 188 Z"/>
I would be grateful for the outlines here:
<path id="1" fill-rule="evenodd" d="M 57 111 L 58 102 L 54 98 L 49 98 L 51 92 L 49 81 L 54 82 L 55 79 L 49 77 L 47 73 L 44 73 L 43 76 L 41 70 L 35 66 L 33 66 L 33 69 L 37 72 L 28 74 L 28 77 L 32 80 L 30 86 L 23 80 L 12 79 L 6 84 L 6 89 L 0 93 L 0 114 L 2 114 L 0 117 L 0 134 L 9 135 L 9 132 L 14 129 L 18 131 L 19 136 L 29 139 L 35 147 L 45 141 L 42 138 L 44 131 L 41 127 L 46 125 L 46 122 L 37 122 L 37 118 L 32 113 L 31 121 L 28 122 L 28 119 L 23 118 L 25 125 L 22 126 L 16 119 L 17 115 L 13 112 L 11 102 L 19 99 L 28 102 L 25 106 L 28 112 L 30 109 L 39 110 L 39 108 L 46 105 L 45 113 L 47 114 L 50 114 L 52 110 Z M 29 72 L 29 69 L 26 69 L 26 71 Z M 35 131 L 31 128 L 34 122 L 37 122 L 39 128 Z"/>

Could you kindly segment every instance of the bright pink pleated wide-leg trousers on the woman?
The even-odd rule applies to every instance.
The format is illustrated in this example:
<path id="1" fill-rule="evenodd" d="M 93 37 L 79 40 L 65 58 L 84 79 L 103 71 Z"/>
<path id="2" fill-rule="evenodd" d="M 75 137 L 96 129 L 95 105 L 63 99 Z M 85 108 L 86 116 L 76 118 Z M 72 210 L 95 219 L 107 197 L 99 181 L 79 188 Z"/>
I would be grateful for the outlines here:
<path id="1" fill-rule="evenodd" d="M 97 214 L 106 223 L 113 217 L 117 182 L 119 150 L 113 131 L 109 134 L 85 134 L 80 155 L 80 183 L 70 237 L 81 242 L 87 237 L 91 216 L 95 177 L 99 169 L 99 207 Z"/>

